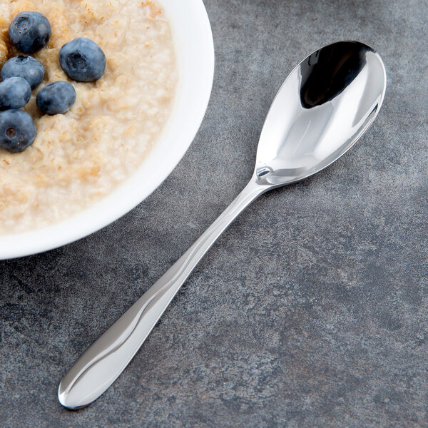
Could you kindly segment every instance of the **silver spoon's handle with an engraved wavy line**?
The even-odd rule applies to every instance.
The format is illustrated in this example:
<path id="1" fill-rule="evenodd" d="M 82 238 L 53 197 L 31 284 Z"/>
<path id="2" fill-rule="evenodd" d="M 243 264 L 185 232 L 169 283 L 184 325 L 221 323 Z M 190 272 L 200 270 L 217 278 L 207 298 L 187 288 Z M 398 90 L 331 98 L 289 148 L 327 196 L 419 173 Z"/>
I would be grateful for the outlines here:
<path id="1" fill-rule="evenodd" d="M 97 399 L 123 372 L 170 301 L 225 228 L 268 189 L 253 179 L 202 236 L 77 360 L 58 388 L 64 407 Z"/>

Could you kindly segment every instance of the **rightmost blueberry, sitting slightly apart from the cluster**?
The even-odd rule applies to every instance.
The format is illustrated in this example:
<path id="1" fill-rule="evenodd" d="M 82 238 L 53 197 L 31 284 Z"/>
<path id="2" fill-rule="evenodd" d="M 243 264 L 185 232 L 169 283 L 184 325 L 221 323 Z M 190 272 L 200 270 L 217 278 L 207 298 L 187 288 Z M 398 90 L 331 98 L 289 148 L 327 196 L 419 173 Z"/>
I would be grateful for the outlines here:
<path id="1" fill-rule="evenodd" d="M 66 43 L 59 51 L 59 62 L 66 75 L 78 82 L 96 81 L 106 69 L 106 55 L 86 37 Z"/>

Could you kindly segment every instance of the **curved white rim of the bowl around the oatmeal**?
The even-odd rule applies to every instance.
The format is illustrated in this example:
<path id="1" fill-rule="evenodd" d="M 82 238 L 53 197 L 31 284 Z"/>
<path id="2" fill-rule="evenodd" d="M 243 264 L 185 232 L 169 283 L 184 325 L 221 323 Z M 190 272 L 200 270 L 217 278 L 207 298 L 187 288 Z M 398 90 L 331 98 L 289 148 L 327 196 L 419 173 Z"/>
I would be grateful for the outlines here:
<path id="1" fill-rule="evenodd" d="M 210 21 L 202 0 L 158 2 L 172 27 L 180 76 L 173 112 L 160 140 L 137 172 L 100 203 L 49 228 L 0 237 L 0 260 L 66 245 L 117 220 L 168 177 L 192 143 L 213 86 L 214 45 Z"/>

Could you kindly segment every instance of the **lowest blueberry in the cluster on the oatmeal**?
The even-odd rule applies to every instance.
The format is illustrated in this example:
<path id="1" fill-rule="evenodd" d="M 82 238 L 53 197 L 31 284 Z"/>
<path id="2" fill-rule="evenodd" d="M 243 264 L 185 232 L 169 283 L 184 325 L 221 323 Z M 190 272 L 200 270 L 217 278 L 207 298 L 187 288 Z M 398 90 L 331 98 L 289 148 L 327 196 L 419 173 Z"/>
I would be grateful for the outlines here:
<path id="1" fill-rule="evenodd" d="M 36 138 L 36 126 L 26 111 L 0 113 L 0 147 L 11 153 L 24 151 Z"/>

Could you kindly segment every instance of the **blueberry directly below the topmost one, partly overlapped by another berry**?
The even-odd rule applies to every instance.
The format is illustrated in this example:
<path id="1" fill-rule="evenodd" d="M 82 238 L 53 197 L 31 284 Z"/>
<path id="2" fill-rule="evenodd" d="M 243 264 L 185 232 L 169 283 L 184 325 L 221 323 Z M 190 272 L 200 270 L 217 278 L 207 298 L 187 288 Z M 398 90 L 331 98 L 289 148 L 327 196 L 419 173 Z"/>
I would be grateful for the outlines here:
<path id="1" fill-rule="evenodd" d="M 35 89 L 43 81 L 44 68 L 32 56 L 15 56 L 10 58 L 1 68 L 1 80 L 9 77 L 24 78 L 31 86 L 31 89 Z"/>

